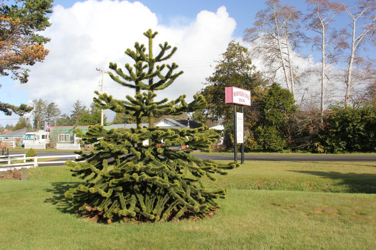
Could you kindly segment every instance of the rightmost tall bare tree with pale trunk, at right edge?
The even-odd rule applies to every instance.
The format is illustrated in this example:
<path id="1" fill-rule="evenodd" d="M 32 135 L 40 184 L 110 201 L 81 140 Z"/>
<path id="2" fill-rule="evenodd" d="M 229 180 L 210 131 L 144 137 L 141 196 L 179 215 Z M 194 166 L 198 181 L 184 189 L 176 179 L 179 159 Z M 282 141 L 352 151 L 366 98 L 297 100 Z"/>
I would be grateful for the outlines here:
<path id="1" fill-rule="evenodd" d="M 367 61 L 359 56 L 359 50 L 364 48 L 364 44 L 375 41 L 376 0 L 359 0 L 352 7 L 344 3 L 342 5 L 350 18 L 347 23 L 351 32 L 350 56 L 347 59 L 347 70 L 345 70 L 345 106 L 348 106 L 350 92 L 356 82 L 352 79 L 354 64 L 368 68 Z"/>

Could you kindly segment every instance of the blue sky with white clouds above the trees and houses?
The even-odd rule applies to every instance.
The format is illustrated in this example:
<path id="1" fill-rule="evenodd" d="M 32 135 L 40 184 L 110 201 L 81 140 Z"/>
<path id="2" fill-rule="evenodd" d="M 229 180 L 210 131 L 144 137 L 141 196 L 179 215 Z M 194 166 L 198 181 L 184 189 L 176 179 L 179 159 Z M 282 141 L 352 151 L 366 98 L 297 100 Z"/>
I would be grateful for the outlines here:
<path id="1" fill-rule="evenodd" d="M 302 11 L 306 9 L 304 2 L 281 0 Z M 52 26 L 42 32 L 51 38 L 45 45 L 49 55 L 43 63 L 30 67 L 26 84 L 0 77 L 1 101 L 19 105 L 42 98 L 55 102 L 67 114 L 76 99 L 89 106 L 102 79 L 96 68 L 108 70 L 109 62 L 132 63 L 124 51 L 133 48 L 136 41 L 146 43 L 143 32 L 149 28 L 159 32 L 155 47 L 164 41 L 178 47 L 172 61 L 185 72 L 168 89 L 160 91 L 159 98 L 175 99 L 186 94 L 187 101 L 193 100 L 229 41 L 241 41 L 244 29 L 252 27 L 256 12 L 263 8 L 263 1 L 55 0 L 50 15 Z M 310 47 L 302 53 L 315 55 Z M 106 74 L 104 82 L 105 92 L 114 98 L 133 94 Z M 112 120 L 114 113 L 105 112 Z M 17 119 L 17 115 L 0 114 L 2 125 Z"/>

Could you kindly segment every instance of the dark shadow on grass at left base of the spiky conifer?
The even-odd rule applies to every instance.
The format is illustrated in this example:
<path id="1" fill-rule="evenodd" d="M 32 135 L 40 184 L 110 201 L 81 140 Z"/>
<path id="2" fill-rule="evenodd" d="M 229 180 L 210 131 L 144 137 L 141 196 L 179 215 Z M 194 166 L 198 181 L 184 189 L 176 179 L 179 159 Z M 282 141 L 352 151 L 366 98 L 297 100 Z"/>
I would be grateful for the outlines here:
<path id="1" fill-rule="evenodd" d="M 52 193 L 53 196 L 44 200 L 46 203 L 55 205 L 56 208 L 64 213 L 77 214 L 79 205 L 71 199 L 64 196 L 64 193 L 73 187 L 77 187 L 81 182 L 52 182 L 52 188 L 45 191 Z"/>

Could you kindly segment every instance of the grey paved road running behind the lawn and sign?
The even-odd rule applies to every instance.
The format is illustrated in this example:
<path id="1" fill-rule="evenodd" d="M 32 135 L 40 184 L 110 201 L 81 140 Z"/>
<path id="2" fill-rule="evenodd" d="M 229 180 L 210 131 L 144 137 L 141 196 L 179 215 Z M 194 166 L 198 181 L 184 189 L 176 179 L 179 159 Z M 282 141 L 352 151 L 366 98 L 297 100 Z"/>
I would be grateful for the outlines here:
<path id="1" fill-rule="evenodd" d="M 9 152 L 9 154 L 22 154 L 22 152 Z M 37 152 L 38 156 L 71 155 L 67 152 Z M 233 160 L 233 155 L 194 154 L 200 159 Z M 61 158 L 68 160 L 72 158 Z M 59 160 L 59 161 L 61 161 Z M 376 155 L 245 155 L 246 161 L 376 161 Z M 240 161 L 240 154 L 238 155 Z"/>

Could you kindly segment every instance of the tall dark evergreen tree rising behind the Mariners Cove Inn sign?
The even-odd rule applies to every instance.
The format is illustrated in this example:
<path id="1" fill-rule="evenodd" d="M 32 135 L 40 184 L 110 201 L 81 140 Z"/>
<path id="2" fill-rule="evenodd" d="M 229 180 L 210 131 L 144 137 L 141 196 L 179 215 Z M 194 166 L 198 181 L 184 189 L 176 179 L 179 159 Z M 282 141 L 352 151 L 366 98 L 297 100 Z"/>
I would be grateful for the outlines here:
<path id="1" fill-rule="evenodd" d="M 230 127 L 229 124 L 233 124 L 233 109 L 231 106 L 224 105 L 225 87 L 234 86 L 251 90 L 254 101 L 259 98 L 262 86 L 265 86 L 267 82 L 261 78 L 258 72 L 255 72 L 256 67 L 252 65 L 248 49 L 238 42 L 231 41 L 217 63 L 214 73 L 206 78 L 208 86 L 200 92 L 205 96 L 209 105 L 204 110 L 195 111 L 193 117 L 198 117 L 203 122 L 207 120 L 221 121 L 226 129 L 223 143 L 227 149 L 231 149 L 233 147 L 233 127 Z M 249 116 L 252 116 L 252 113 L 253 107 L 245 107 L 244 119 L 251 120 Z M 205 116 L 206 119 L 202 116 Z M 245 130 L 249 130 L 250 124 L 245 123 L 244 125 Z"/>

